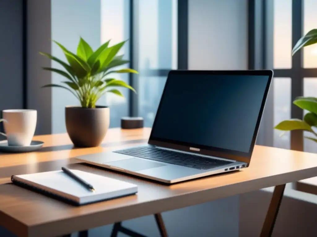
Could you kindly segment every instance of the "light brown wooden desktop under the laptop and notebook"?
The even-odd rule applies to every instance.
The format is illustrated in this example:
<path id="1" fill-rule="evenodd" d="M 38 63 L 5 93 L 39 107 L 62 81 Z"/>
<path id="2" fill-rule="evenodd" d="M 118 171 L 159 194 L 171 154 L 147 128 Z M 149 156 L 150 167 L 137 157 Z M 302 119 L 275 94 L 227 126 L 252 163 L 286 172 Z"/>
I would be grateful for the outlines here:
<path id="1" fill-rule="evenodd" d="M 256 146 L 250 167 L 171 186 L 128 177 L 83 164 L 77 155 L 145 143 L 150 129 L 110 129 L 101 147 L 72 148 L 67 134 L 37 136 L 42 150 L 0 154 L 0 225 L 18 236 L 58 236 L 139 216 L 178 209 L 215 199 L 316 176 L 317 154 Z M 74 169 L 126 180 L 139 186 L 137 195 L 73 207 L 10 184 L 10 175 Z"/>

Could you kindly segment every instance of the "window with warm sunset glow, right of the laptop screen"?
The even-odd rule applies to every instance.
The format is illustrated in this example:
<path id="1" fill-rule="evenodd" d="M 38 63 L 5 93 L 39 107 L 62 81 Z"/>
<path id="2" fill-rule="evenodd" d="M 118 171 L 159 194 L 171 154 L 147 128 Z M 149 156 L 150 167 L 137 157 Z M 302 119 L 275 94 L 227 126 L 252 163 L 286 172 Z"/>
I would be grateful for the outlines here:
<path id="1" fill-rule="evenodd" d="M 303 112 L 293 105 L 298 96 L 317 97 L 317 46 L 305 47 L 292 57 L 291 50 L 296 42 L 309 30 L 317 28 L 317 2 L 314 0 L 272 0 L 261 5 L 263 64 L 262 68 L 274 70 L 272 99 L 268 99 L 264 131 L 269 131 L 285 119 L 303 119 Z M 255 18 L 259 19 L 259 18 Z M 256 30 L 255 30 L 256 34 Z M 302 54 L 302 56 L 301 56 Z M 273 61 L 273 63 L 272 63 Z M 271 102 L 272 101 L 272 102 Z M 307 132 L 300 130 L 273 133 L 276 147 L 317 152 L 316 143 L 303 139 Z M 269 136 L 271 134 L 267 133 Z M 266 143 L 271 137 L 266 137 Z M 267 145 L 267 144 L 263 144 Z M 270 144 L 269 144 L 270 145 Z"/>

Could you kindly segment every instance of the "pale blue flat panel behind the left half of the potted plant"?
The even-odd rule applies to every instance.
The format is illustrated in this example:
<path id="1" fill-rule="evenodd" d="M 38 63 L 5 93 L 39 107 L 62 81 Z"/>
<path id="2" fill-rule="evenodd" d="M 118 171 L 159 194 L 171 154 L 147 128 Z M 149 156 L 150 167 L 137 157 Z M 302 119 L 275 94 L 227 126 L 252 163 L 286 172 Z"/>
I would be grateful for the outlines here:
<path id="1" fill-rule="evenodd" d="M 82 37 L 96 50 L 100 46 L 100 0 L 53 0 L 51 1 L 52 39 L 60 42 L 69 51 L 76 52 Z M 66 23 L 67 22 L 67 23 Z M 59 46 L 52 44 L 52 55 L 67 62 Z M 64 70 L 58 63 L 52 67 Z M 65 78 L 52 74 L 52 82 L 61 84 Z M 100 99 L 100 102 L 102 99 Z M 65 106 L 79 105 L 78 100 L 62 88 L 52 89 L 52 133 L 66 132 Z"/>

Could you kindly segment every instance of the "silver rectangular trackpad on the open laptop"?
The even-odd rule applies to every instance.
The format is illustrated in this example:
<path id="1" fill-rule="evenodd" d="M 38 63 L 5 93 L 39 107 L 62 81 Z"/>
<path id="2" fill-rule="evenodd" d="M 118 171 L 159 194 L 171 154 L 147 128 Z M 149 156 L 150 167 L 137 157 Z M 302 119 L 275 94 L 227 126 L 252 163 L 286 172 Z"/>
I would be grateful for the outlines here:
<path id="1" fill-rule="evenodd" d="M 112 161 L 104 164 L 130 171 L 140 171 L 165 166 L 164 164 L 158 162 L 146 161 L 139 158 L 131 158 L 122 161 Z"/>

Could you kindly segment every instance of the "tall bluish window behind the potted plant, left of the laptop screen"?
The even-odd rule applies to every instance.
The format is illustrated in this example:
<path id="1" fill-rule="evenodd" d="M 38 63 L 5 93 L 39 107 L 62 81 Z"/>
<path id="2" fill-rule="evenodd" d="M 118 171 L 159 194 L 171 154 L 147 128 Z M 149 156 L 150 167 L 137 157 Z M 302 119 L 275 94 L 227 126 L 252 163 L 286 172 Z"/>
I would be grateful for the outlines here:
<path id="1" fill-rule="evenodd" d="M 136 69 L 139 74 L 117 74 L 115 78 L 133 86 L 137 94 L 120 88 L 125 98 L 114 94 L 100 98 L 98 105 L 110 107 L 110 127 L 120 127 L 124 116 L 142 116 L 145 126 L 152 126 L 168 72 L 178 68 L 178 45 L 182 45 L 180 52 L 184 54 L 179 65 L 187 68 L 187 4 L 182 0 L 95 0 L 76 4 L 74 0 L 52 1 L 51 38 L 70 51 L 76 52 L 80 36 L 94 50 L 108 40 L 110 46 L 128 40 L 119 53 L 130 60 L 130 65 L 122 68 Z M 179 12 L 182 44 L 178 44 Z M 66 60 L 54 44 L 52 54 Z M 55 62 L 52 64 L 59 67 Z M 60 75 L 52 76 L 56 83 L 64 80 Z M 64 107 L 79 103 L 60 88 L 52 89 L 52 97 L 52 132 L 65 132 Z"/>

